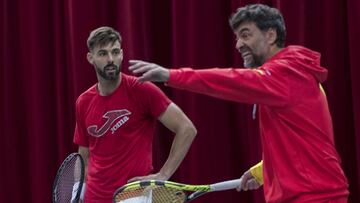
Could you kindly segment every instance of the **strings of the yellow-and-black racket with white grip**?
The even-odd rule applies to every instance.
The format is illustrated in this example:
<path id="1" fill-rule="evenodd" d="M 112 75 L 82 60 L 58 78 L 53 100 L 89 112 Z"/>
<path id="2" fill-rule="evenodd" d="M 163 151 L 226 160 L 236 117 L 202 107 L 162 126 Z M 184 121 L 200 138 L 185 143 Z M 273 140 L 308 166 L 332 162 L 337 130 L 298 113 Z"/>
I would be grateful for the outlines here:
<path id="1" fill-rule="evenodd" d="M 151 195 L 149 195 L 149 192 L 151 192 Z M 130 202 L 127 200 L 131 198 L 135 199 L 136 197 L 140 198 L 142 196 L 151 196 L 152 203 L 183 203 L 186 199 L 184 191 L 179 189 L 164 186 L 145 186 L 128 190 L 125 189 L 116 194 L 115 200 L 117 203 Z"/>

